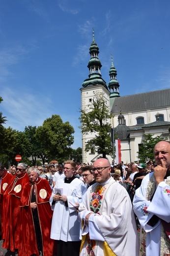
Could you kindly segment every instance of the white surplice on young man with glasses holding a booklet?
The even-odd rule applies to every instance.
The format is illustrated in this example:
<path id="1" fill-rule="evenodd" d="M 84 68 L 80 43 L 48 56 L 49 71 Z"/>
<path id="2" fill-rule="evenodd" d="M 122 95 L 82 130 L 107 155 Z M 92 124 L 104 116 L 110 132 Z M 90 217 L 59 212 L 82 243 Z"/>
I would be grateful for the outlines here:
<path id="1" fill-rule="evenodd" d="M 85 189 L 84 183 L 78 178 L 74 179 L 70 184 L 64 183 L 64 180 L 61 179 L 57 181 L 55 188 L 63 189 L 63 195 L 67 195 L 68 207 L 62 201 L 56 201 L 52 205 L 54 213 L 50 237 L 64 242 L 79 241 L 80 221 L 76 208 L 73 205 L 81 202 L 82 193 Z M 51 204 L 53 202 L 55 188 L 50 198 Z"/>

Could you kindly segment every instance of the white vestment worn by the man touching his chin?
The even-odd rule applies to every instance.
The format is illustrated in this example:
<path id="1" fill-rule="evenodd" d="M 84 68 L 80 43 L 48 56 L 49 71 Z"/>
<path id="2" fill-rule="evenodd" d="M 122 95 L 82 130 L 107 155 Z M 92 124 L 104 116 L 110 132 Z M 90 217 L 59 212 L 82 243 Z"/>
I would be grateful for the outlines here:
<path id="1" fill-rule="evenodd" d="M 168 177 L 167 181 L 169 180 L 169 178 L 170 177 Z M 170 223 L 169 185 L 166 183 L 165 180 L 164 182 L 159 183 L 159 185 L 156 188 L 156 181 L 154 178 L 154 173 L 152 172 L 143 178 L 141 187 L 137 189 L 135 192 L 133 200 L 134 212 L 137 215 L 141 224 L 140 255 L 166 255 L 164 253 L 161 253 L 161 247 L 164 246 L 164 242 L 161 242 L 161 221 L 159 220 L 157 224 L 155 224 L 153 227 L 147 223 L 152 218 L 153 215 L 156 215 L 162 220 Z M 154 191 L 155 194 L 153 196 L 153 199 L 150 201 L 151 195 L 153 194 Z M 147 197 L 148 199 L 146 199 Z M 142 228 L 146 232 L 146 241 L 144 240 Z M 167 252 L 167 255 L 169 254 L 170 251 Z"/>

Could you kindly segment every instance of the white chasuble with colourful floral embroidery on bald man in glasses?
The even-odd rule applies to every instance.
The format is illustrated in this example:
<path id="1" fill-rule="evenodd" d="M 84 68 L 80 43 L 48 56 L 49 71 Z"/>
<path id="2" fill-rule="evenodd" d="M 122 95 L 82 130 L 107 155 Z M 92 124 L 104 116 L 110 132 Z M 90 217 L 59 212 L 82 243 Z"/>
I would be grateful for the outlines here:
<path id="1" fill-rule="evenodd" d="M 90 215 L 88 226 L 83 226 L 82 240 L 85 239 L 85 243 L 82 243 L 80 256 L 139 255 L 139 238 L 130 197 L 112 177 L 88 188 L 79 207 L 82 223 L 90 212 L 94 214 Z M 109 248 L 109 254 L 105 253 L 106 248 Z"/>

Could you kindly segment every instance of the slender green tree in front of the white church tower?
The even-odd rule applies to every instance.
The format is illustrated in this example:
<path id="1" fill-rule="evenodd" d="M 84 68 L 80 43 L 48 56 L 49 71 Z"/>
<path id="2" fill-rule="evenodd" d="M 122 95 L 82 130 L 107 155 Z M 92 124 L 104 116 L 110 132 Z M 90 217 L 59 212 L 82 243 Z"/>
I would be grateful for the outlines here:
<path id="1" fill-rule="evenodd" d="M 83 134 L 94 132 L 95 137 L 86 142 L 85 151 L 93 150 L 98 154 L 113 156 L 111 146 L 111 111 L 110 106 L 102 93 L 96 93 L 93 101 L 90 102 L 87 109 L 81 109 L 81 129 Z"/>

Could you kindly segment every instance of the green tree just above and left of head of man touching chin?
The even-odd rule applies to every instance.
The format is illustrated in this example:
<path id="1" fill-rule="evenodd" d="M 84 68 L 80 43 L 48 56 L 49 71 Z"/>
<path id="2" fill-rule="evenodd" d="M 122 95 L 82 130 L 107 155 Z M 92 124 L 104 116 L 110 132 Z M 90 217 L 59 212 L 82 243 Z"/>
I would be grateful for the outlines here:
<path id="1" fill-rule="evenodd" d="M 158 143 L 161 140 L 167 140 L 168 138 L 165 138 L 163 136 L 156 136 L 153 137 L 153 134 L 144 134 L 144 140 L 143 144 L 139 146 L 139 152 L 138 158 L 140 162 L 145 162 L 147 160 L 153 160 L 153 149 L 156 143 Z"/>

